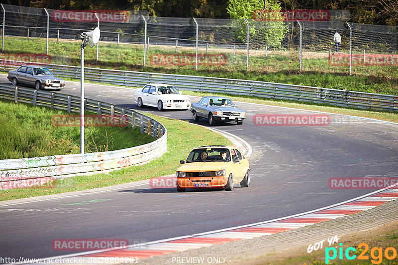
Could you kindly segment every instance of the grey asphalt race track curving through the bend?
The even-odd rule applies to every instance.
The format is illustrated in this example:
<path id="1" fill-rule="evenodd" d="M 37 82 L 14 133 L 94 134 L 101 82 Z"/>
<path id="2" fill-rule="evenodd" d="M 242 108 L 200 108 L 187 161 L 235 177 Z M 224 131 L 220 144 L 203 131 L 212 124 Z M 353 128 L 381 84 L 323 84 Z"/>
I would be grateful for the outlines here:
<path id="1" fill-rule="evenodd" d="M 3 74 L 0 82 L 10 84 Z M 66 82 L 61 93 L 80 96 L 80 83 Z M 86 84 L 85 96 L 138 109 L 131 88 Z M 331 117 L 328 126 L 255 126 L 255 114 L 313 112 L 237 104 L 248 113 L 243 125 L 214 128 L 251 145 L 249 188 L 177 193 L 143 185 L 1 206 L 1 256 L 45 258 L 74 253 L 53 251 L 54 239 L 127 239 L 133 244 L 250 224 L 377 190 L 330 189 L 329 178 L 397 177 L 397 124 L 326 114 Z M 159 112 L 147 107 L 140 111 L 193 122 L 190 111 Z M 208 126 L 206 120 L 199 124 Z M 186 155 L 176 157 L 176 164 Z"/>

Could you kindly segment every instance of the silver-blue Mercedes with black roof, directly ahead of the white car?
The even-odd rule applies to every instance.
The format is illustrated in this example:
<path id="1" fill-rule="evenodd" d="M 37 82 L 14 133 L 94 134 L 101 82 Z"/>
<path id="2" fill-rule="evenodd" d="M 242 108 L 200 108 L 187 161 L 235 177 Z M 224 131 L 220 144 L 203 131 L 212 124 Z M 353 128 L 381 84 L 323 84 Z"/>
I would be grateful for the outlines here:
<path id="1" fill-rule="evenodd" d="M 202 97 L 198 103 L 191 105 L 191 112 L 194 122 L 205 118 L 211 126 L 219 121 L 242 124 L 246 118 L 246 112 L 237 109 L 227 97 Z"/>

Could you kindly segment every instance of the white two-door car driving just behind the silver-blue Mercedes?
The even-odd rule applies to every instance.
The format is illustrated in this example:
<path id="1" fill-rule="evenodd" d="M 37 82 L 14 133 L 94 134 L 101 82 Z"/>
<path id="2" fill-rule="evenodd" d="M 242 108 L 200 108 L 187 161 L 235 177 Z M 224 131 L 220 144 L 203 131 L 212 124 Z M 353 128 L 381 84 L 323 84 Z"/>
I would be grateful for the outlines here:
<path id="1" fill-rule="evenodd" d="M 137 88 L 134 99 L 140 108 L 144 105 L 157 107 L 160 111 L 191 108 L 190 99 L 181 95 L 175 86 L 167 84 L 147 84 L 143 88 Z"/>

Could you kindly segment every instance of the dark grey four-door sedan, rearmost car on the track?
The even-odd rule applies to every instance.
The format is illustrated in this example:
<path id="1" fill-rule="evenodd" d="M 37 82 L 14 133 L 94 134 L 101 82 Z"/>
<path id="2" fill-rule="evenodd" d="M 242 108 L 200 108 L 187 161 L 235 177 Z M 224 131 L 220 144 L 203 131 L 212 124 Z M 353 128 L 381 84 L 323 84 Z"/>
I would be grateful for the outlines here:
<path id="1" fill-rule="evenodd" d="M 62 89 L 65 86 L 63 79 L 55 77 L 48 68 L 43 66 L 20 66 L 16 70 L 8 71 L 7 78 L 12 85 L 24 84 L 34 86 L 36 89 Z"/>

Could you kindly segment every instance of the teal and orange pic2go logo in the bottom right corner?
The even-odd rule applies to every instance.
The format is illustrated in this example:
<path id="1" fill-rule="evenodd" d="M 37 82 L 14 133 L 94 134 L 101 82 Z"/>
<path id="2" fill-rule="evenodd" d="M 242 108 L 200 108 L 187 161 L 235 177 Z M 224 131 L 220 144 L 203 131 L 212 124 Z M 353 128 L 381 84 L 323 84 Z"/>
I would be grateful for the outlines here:
<path id="1" fill-rule="evenodd" d="M 358 249 L 360 249 L 359 251 L 362 251 L 361 254 L 359 254 L 358 256 L 354 254 L 357 251 L 357 249 L 349 247 L 344 251 L 342 248 L 343 243 L 340 243 L 339 245 L 340 247 L 338 248 L 338 250 L 335 247 L 325 248 L 325 264 L 329 264 L 330 260 L 336 259 L 337 253 L 339 254 L 339 260 L 343 259 L 343 253 L 345 258 L 348 260 L 354 260 L 357 257 L 358 260 L 369 260 L 369 256 L 366 255 L 368 253 L 369 246 L 366 243 L 361 243 L 358 245 Z M 352 251 L 352 255 L 350 255 L 350 251 Z M 386 250 L 383 252 L 383 248 L 375 247 L 372 248 L 370 251 L 370 256 L 372 258 L 371 263 L 381 264 L 383 262 L 383 254 L 384 257 L 390 261 L 397 258 L 397 250 L 395 248 L 389 247 L 386 248 Z"/>

